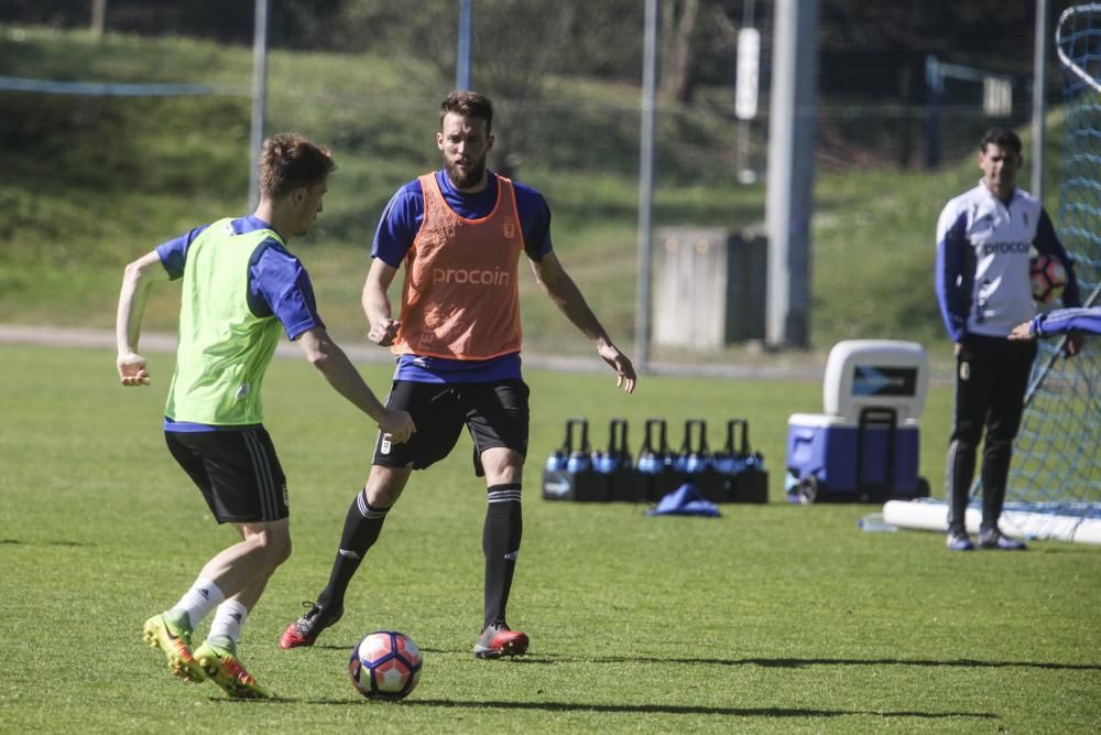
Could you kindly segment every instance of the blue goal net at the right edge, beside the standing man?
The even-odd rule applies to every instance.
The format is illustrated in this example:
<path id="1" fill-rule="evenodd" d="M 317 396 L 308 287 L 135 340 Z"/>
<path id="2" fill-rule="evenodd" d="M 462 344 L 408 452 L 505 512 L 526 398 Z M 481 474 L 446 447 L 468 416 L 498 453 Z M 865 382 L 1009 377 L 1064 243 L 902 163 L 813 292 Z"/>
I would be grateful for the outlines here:
<path id="1" fill-rule="evenodd" d="M 1056 226 L 1083 305 L 1101 290 L 1101 3 L 1069 8 L 1056 31 L 1065 71 Z M 1006 510 L 1101 518 L 1101 337 L 1072 358 L 1042 339 L 1013 450 Z"/>

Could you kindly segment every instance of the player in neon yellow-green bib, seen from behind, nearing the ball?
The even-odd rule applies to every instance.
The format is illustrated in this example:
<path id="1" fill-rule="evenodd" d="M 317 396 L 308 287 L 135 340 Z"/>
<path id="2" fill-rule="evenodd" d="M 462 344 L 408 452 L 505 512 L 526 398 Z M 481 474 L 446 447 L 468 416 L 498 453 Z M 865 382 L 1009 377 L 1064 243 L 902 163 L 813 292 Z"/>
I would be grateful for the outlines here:
<path id="1" fill-rule="evenodd" d="M 230 696 L 265 699 L 237 642 L 268 580 L 291 554 L 286 478 L 263 426 L 264 371 L 284 331 L 306 359 L 400 444 L 415 430 L 408 413 L 384 408 L 317 314 L 309 275 L 286 250 L 321 212 L 335 169 L 328 149 L 285 133 L 264 141 L 260 204 L 168 240 L 127 266 L 117 322 L 123 386 L 150 382 L 138 341 L 150 287 L 183 279 L 179 345 L 168 388 L 164 436 L 219 523 L 241 540 L 210 559 L 174 606 L 145 621 L 142 636 L 170 671 L 210 679 Z M 215 612 L 206 640 L 192 633 Z"/>

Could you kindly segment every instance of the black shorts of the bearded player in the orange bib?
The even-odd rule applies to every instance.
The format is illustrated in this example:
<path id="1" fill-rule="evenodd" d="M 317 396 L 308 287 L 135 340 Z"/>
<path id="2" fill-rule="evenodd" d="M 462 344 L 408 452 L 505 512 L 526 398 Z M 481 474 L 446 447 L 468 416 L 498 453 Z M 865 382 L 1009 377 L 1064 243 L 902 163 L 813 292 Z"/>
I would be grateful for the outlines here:
<path id="1" fill-rule="evenodd" d="M 416 433 L 404 444 L 374 445 L 374 464 L 424 469 L 455 448 L 464 424 L 475 442 L 475 474 L 481 477 L 481 453 L 494 446 L 527 456 L 527 385 L 500 380 L 443 385 L 395 380 L 386 399 L 392 409 L 408 411 Z"/>

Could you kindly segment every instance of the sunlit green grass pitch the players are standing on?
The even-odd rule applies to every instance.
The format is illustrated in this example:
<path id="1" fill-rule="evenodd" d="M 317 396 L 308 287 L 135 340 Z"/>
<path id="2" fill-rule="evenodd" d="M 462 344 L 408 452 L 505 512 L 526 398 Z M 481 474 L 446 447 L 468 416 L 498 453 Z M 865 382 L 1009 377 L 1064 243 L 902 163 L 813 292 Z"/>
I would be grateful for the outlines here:
<path id="1" fill-rule="evenodd" d="M 356 579 L 344 620 L 310 650 L 275 641 L 324 584 L 368 469 L 373 432 L 304 360 L 276 360 L 268 426 L 290 478 L 295 552 L 241 641 L 277 702 L 232 702 L 171 679 L 140 640 L 231 532 L 208 517 L 160 431 L 154 383 L 117 386 L 103 350 L 0 347 L 0 731 L 157 732 L 1088 732 L 1101 720 L 1101 549 L 950 554 L 938 534 L 862 533 L 870 506 L 782 501 L 787 417 L 818 411 L 799 382 L 530 370 L 525 537 L 510 621 L 528 656 L 470 653 L 481 610 L 480 480 L 462 439 L 415 476 Z M 390 369 L 364 368 L 384 391 Z M 939 495 L 950 390 L 923 421 Z M 563 421 L 637 430 L 750 419 L 767 506 L 719 519 L 545 502 L 539 469 Z M 713 430 L 712 430 L 713 432 Z M 718 439 L 712 436 L 712 443 Z M 360 698 L 346 667 L 381 627 L 425 651 L 397 704 Z"/>

